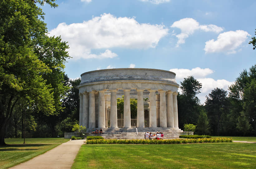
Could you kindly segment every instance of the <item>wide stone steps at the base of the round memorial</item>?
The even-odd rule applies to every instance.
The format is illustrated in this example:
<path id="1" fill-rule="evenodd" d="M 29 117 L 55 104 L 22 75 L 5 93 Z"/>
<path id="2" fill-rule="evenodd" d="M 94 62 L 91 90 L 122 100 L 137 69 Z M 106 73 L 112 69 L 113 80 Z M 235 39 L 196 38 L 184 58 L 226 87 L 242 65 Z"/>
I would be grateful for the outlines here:
<path id="1" fill-rule="evenodd" d="M 102 130 L 103 134 L 91 134 L 91 132 L 88 132 L 87 134 L 91 136 L 102 136 L 104 139 L 144 139 L 145 132 L 147 131 L 149 133 L 152 132 L 152 134 L 156 133 L 157 131 L 162 132 L 164 134 L 164 139 L 176 139 L 179 138 L 180 135 L 187 134 L 187 132 L 183 132 L 181 129 L 162 127 L 137 128 L 138 134 L 135 127 L 106 128 Z"/>

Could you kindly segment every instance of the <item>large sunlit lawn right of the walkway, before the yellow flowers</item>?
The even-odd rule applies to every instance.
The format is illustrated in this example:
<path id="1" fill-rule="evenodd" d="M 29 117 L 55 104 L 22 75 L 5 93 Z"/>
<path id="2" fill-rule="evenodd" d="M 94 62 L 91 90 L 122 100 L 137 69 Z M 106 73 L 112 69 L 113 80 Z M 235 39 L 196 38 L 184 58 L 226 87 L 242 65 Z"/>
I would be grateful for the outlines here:
<path id="1" fill-rule="evenodd" d="M 78 168 L 256 168 L 256 146 L 245 143 L 84 144 Z"/>

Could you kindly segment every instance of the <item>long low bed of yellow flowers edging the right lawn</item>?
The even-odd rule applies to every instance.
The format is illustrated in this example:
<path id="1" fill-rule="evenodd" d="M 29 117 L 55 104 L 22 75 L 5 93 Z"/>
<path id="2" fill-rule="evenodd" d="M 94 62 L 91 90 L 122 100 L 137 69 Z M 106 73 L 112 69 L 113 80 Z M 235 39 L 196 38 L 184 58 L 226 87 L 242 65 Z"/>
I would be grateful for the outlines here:
<path id="1" fill-rule="evenodd" d="M 217 143 L 217 142 L 232 142 L 230 138 L 214 138 L 214 139 L 160 139 L 160 140 L 145 140 L 145 139 L 92 139 L 87 140 L 86 144 L 187 144 L 187 143 Z"/>

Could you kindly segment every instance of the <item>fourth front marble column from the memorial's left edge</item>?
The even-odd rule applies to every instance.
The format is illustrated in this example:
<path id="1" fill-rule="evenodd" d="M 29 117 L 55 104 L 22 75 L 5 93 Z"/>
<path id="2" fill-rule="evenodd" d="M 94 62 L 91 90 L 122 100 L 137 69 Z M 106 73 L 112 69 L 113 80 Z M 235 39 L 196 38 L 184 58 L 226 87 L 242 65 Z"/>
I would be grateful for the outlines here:
<path id="1" fill-rule="evenodd" d="M 99 91 L 99 121 L 98 127 L 105 128 L 105 90 Z"/>

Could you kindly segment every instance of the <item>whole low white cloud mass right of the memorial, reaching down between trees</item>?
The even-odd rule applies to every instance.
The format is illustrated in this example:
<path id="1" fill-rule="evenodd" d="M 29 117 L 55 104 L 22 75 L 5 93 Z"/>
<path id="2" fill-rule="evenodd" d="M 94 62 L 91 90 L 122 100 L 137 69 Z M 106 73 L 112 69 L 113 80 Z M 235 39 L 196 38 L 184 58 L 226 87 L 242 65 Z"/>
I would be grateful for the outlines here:
<path id="1" fill-rule="evenodd" d="M 234 82 L 229 82 L 228 80 L 214 80 L 212 78 L 207 78 L 207 75 L 214 73 L 213 70 L 209 68 L 202 69 L 200 67 L 189 69 L 170 69 L 170 71 L 176 73 L 176 81 L 179 83 L 183 81 L 184 78 L 187 76 L 193 75 L 196 80 L 198 80 L 202 84 L 201 93 L 197 95 L 200 99 L 201 103 L 205 102 L 205 96 L 211 93 L 211 90 L 215 88 L 220 88 L 224 90 L 228 90 L 228 86 L 233 84 Z M 179 88 L 178 91 L 181 93 L 181 89 Z"/>

